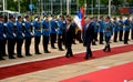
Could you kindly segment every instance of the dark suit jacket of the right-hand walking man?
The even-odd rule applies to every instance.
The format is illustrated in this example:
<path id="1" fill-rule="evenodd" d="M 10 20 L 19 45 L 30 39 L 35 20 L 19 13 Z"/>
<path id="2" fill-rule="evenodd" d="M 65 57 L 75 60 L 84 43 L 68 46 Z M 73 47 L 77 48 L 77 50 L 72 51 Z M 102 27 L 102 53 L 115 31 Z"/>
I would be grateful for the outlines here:
<path id="1" fill-rule="evenodd" d="M 91 42 L 94 39 L 94 25 L 92 23 L 89 24 L 85 30 L 85 43 Z"/>

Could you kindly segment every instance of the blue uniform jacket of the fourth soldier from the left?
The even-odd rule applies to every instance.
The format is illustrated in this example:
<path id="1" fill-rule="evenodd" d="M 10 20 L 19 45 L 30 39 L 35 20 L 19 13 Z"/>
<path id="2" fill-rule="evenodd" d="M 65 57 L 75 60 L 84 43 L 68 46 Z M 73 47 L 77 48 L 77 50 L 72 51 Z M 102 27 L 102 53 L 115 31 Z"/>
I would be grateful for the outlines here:
<path id="1" fill-rule="evenodd" d="M 24 22 L 24 34 L 25 34 L 25 37 L 29 37 L 29 38 L 31 38 L 32 35 L 33 35 L 33 33 L 32 33 L 32 24 L 31 24 L 31 22 L 29 22 L 29 21 L 25 21 Z"/>

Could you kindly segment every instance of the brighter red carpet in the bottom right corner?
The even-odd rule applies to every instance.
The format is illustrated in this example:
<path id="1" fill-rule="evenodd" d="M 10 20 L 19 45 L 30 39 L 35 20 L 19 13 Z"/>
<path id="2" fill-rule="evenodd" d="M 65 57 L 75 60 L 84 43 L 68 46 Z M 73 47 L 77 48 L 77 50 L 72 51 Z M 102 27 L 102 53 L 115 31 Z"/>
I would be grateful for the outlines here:
<path id="1" fill-rule="evenodd" d="M 79 75 L 61 82 L 124 82 L 124 80 L 133 80 L 133 62 Z"/>

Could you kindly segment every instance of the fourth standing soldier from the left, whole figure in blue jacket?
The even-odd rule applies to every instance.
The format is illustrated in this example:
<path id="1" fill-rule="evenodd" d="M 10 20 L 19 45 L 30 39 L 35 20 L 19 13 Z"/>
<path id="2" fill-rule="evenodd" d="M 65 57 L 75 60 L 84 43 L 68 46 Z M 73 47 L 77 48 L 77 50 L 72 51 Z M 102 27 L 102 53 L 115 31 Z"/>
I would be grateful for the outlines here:
<path id="1" fill-rule="evenodd" d="M 24 31 L 24 34 L 25 34 L 25 44 L 24 44 L 25 55 L 31 57 L 32 54 L 30 54 L 30 45 L 31 45 L 31 39 L 33 37 L 33 24 L 31 23 L 29 16 L 25 16 L 24 27 L 25 27 L 25 29 L 24 29 L 25 30 Z"/>

